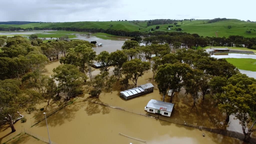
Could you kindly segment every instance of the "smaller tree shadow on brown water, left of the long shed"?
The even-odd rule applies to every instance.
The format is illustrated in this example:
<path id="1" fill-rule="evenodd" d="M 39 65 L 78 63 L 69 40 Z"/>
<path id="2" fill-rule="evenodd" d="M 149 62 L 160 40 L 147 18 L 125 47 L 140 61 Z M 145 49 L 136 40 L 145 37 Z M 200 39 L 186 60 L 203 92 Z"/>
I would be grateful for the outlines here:
<path id="1" fill-rule="evenodd" d="M 93 114 L 108 114 L 110 112 L 109 107 L 105 106 L 99 98 L 87 97 L 87 106 L 85 108 L 86 113 L 91 116 Z"/>

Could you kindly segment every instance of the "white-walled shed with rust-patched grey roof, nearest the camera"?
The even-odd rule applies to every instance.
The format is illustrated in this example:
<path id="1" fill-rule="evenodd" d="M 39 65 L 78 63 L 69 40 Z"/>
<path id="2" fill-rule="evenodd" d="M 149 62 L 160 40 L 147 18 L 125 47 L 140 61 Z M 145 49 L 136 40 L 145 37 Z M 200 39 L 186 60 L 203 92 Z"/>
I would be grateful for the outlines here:
<path id="1" fill-rule="evenodd" d="M 173 103 L 151 99 L 145 106 L 145 110 L 151 113 L 170 117 L 173 111 Z"/>

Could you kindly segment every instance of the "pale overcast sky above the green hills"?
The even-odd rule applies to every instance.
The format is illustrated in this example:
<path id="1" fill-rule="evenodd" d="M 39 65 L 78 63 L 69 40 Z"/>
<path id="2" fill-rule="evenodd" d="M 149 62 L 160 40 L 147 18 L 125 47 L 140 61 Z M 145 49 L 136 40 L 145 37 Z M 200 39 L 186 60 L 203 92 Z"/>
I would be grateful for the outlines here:
<path id="1" fill-rule="evenodd" d="M 255 0 L 3 0 L 0 21 L 76 22 L 236 18 L 256 21 Z"/>

